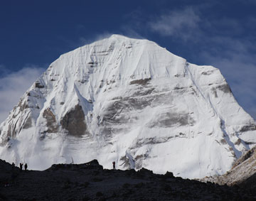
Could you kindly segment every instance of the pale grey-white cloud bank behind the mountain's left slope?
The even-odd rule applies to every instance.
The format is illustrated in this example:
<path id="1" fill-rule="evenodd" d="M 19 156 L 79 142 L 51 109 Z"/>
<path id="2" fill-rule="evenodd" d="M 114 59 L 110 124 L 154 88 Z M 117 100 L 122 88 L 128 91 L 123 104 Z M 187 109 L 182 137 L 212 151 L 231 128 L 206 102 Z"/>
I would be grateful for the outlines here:
<path id="1" fill-rule="evenodd" d="M 3 65 L 2 71 L 5 70 Z M 24 92 L 36 81 L 45 69 L 36 65 L 24 67 L 18 72 L 11 72 L 0 77 L 0 123 L 18 103 Z"/>

